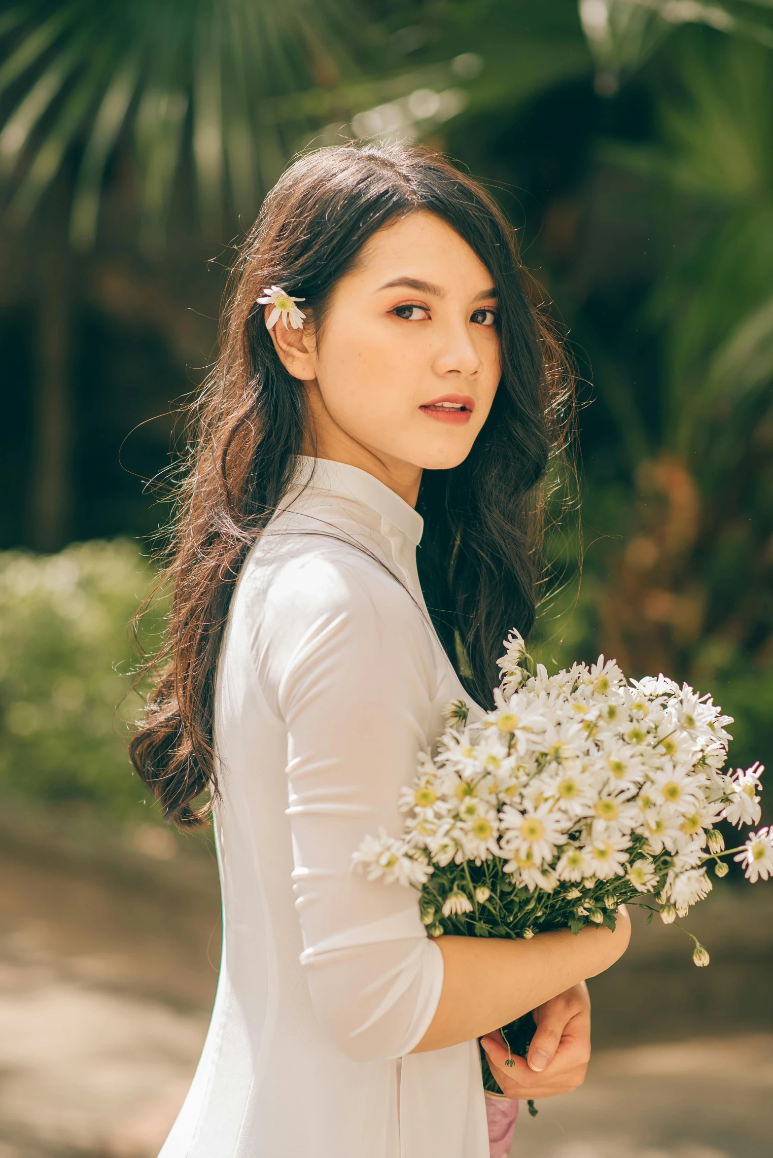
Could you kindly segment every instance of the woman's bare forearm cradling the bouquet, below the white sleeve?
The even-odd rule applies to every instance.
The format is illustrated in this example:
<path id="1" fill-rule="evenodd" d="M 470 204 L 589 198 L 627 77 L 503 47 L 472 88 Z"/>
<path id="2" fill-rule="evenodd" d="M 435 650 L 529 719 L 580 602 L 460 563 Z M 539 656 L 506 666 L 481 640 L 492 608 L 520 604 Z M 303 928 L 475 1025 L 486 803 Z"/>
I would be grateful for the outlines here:
<path id="1" fill-rule="evenodd" d="M 624 909 L 617 929 L 587 925 L 538 933 L 530 940 L 441 937 L 443 989 L 435 1016 L 413 1053 L 444 1049 L 514 1021 L 625 953 L 631 924 Z"/>

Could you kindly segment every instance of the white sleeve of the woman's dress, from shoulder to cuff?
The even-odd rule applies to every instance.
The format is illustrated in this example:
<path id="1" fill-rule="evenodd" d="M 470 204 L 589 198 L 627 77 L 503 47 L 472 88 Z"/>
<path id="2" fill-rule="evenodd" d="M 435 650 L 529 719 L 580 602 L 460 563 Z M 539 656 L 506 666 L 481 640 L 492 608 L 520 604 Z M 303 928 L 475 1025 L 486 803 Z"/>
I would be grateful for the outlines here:
<path id="1" fill-rule="evenodd" d="M 437 714 L 429 629 L 395 578 L 345 549 L 282 566 L 262 618 L 258 674 L 287 727 L 295 907 L 314 1009 L 348 1057 L 399 1057 L 433 1018 L 442 955 L 414 889 L 367 881 L 351 865 L 363 836 L 402 829 L 399 790 Z"/>

